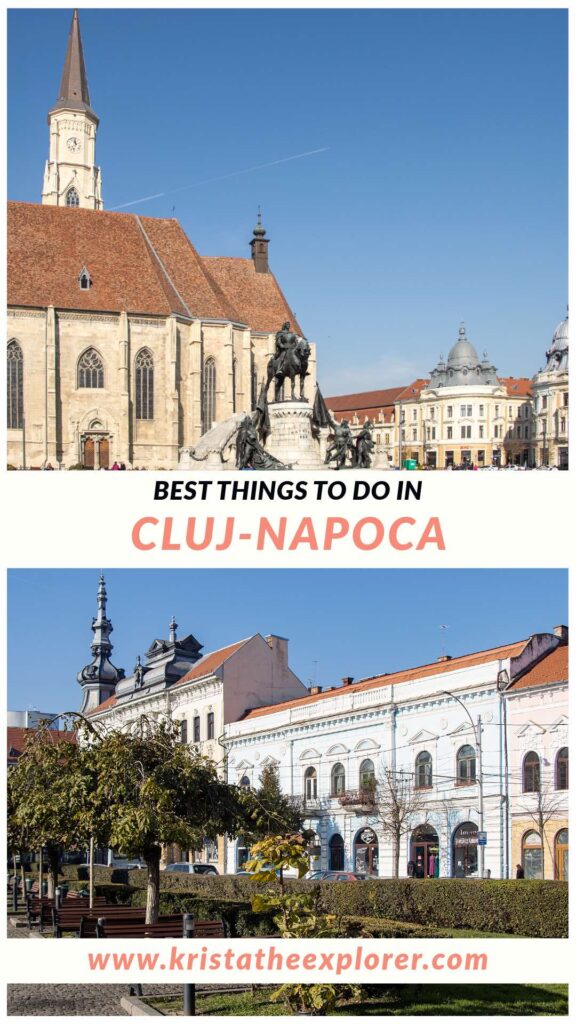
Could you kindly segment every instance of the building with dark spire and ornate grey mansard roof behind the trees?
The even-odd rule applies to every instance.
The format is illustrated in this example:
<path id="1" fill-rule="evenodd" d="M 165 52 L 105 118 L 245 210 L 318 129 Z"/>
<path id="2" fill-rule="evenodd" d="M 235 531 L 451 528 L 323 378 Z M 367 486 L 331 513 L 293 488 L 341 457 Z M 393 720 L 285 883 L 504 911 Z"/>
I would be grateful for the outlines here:
<path id="1" fill-rule="evenodd" d="M 130 729 L 143 715 L 150 720 L 174 720 L 180 724 L 182 742 L 197 745 L 223 773 L 223 736 L 230 722 L 240 718 L 246 708 L 307 692 L 290 669 L 284 637 L 256 633 L 204 653 L 192 634 L 178 636 L 174 618 L 168 638 L 155 638 L 143 658 L 138 655 L 132 672 L 126 674 L 111 662 L 113 627 L 107 600 L 100 577 L 97 613 L 92 620 L 92 656 L 77 677 L 82 713 L 96 726 Z M 176 847 L 166 849 L 164 862 L 187 855 L 224 870 L 223 839 L 217 844 L 206 841 L 204 849 L 190 854 Z"/>

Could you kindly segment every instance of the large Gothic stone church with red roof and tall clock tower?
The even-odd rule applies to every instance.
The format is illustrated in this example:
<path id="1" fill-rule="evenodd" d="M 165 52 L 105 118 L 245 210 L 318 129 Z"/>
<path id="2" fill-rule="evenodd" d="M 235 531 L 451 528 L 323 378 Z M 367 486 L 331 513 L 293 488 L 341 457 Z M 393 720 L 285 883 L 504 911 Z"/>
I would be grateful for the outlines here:
<path id="1" fill-rule="evenodd" d="M 104 210 L 77 11 L 48 125 L 42 203 L 8 205 L 8 464 L 174 469 L 301 334 L 270 239 L 258 213 L 248 258 L 202 257 L 175 219 Z"/>

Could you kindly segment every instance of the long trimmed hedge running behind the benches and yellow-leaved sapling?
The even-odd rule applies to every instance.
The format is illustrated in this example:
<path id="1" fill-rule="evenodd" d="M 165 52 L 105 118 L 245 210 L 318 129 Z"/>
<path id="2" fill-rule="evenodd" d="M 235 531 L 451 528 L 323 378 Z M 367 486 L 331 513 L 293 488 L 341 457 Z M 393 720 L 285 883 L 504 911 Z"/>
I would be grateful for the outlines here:
<path id="1" fill-rule="evenodd" d="M 87 882 L 87 867 L 85 864 L 65 865 L 63 876 L 75 889 L 83 888 Z M 129 898 L 138 901 L 134 905 L 141 905 L 139 901 L 146 901 L 145 870 L 95 867 L 94 878 L 98 895 L 108 896 L 110 892 L 114 902 L 127 902 Z M 163 912 L 181 909 L 197 916 L 225 912 L 231 914 L 233 933 L 271 935 L 275 932 L 272 915 L 253 914 L 250 906 L 254 893 L 270 890 L 270 883 L 258 884 L 242 874 L 181 876 L 162 871 L 160 885 Z M 393 926 L 401 923 L 431 929 L 470 929 L 530 938 L 565 938 L 568 935 L 566 882 L 373 879 L 317 883 L 289 879 L 285 886 L 291 891 L 314 892 L 319 909 L 341 919 L 342 927 L 345 919 L 377 919 Z M 128 894 L 127 898 L 121 893 Z M 345 931 L 342 934 L 346 934 Z"/>

